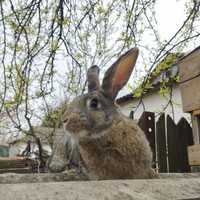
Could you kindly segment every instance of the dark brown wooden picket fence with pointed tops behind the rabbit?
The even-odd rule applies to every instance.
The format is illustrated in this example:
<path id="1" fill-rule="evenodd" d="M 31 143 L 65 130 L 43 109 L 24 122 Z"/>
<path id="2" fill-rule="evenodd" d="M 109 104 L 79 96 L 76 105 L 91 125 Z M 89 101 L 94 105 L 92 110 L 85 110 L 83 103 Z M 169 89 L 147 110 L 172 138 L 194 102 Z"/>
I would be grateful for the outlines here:
<path id="1" fill-rule="evenodd" d="M 165 114 L 156 120 L 152 112 L 144 112 L 139 126 L 149 140 L 153 167 L 159 172 L 190 172 L 187 147 L 193 145 L 192 128 L 185 118 L 176 124 Z"/>

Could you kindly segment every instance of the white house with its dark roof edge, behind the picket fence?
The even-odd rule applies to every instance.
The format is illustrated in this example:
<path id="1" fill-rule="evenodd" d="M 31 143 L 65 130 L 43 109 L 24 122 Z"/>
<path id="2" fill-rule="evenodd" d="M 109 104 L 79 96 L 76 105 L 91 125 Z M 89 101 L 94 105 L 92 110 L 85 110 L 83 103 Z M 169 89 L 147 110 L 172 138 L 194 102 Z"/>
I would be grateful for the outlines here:
<path id="1" fill-rule="evenodd" d="M 168 68 L 161 70 L 156 77 L 149 79 L 152 88 L 148 89 L 142 98 L 134 97 L 134 91 L 118 98 L 116 102 L 120 106 L 121 112 L 136 120 L 140 118 L 144 111 L 154 112 L 156 117 L 164 112 L 166 115 L 170 115 L 176 123 L 182 117 L 185 117 L 190 122 L 190 114 L 184 113 L 182 109 L 179 83 L 174 79 L 178 74 L 178 66 L 172 64 Z M 163 80 L 169 80 L 167 85 L 170 88 L 170 92 L 164 96 L 159 92 Z"/>

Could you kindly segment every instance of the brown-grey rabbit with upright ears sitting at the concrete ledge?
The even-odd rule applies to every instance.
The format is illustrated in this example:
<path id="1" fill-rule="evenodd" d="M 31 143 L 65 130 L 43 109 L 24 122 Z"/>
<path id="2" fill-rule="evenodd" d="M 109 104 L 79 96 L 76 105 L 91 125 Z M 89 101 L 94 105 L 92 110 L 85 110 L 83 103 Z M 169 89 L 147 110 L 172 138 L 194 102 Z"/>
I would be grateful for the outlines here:
<path id="1" fill-rule="evenodd" d="M 75 144 L 72 149 L 78 147 L 79 158 L 91 179 L 157 176 L 151 168 L 152 151 L 145 134 L 115 103 L 118 92 L 129 80 L 138 53 L 135 47 L 119 57 L 106 71 L 101 85 L 98 66 L 90 67 L 88 93 L 76 97 L 63 115 L 64 131 Z M 50 166 L 53 171 L 55 165 L 56 162 Z M 57 168 L 61 169 L 63 166 Z"/>

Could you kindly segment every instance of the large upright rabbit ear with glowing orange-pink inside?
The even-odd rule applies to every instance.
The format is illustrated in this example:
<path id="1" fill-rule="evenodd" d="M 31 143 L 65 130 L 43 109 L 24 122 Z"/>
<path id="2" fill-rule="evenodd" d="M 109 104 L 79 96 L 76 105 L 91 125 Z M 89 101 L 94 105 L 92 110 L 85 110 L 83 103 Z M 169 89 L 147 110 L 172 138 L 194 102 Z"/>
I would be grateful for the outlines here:
<path id="1" fill-rule="evenodd" d="M 119 90 L 126 85 L 135 66 L 138 53 L 138 48 L 130 49 L 106 71 L 102 89 L 112 100 L 115 99 Z"/>

